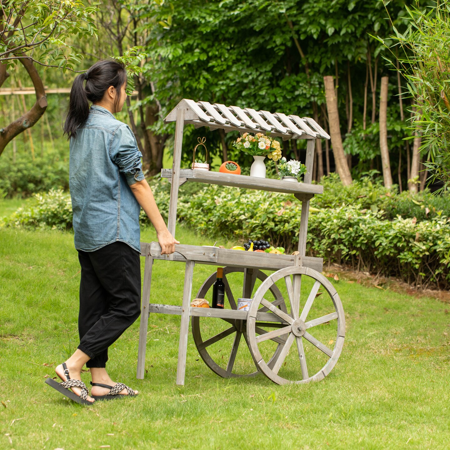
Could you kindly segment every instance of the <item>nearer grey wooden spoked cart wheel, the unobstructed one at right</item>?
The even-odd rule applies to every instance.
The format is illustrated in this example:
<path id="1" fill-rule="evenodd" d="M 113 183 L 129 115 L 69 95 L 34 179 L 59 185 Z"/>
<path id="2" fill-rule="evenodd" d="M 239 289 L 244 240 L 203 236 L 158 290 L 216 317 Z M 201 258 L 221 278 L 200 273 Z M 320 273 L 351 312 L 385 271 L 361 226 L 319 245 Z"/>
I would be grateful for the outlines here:
<path id="1" fill-rule="evenodd" d="M 274 283 L 283 278 L 288 291 L 290 315 L 274 308 L 264 298 Z M 306 301 L 300 310 L 301 300 L 304 299 Z M 317 315 L 313 314 L 314 304 L 317 304 L 313 309 Z M 278 329 L 262 335 L 257 330 L 255 319 L 261 306 L 284 320 L 283 324 L 277 325 Z M 257 368 L 275 383 L 320 381 L 338 361 L 344 337 L 345 317 L 341 299 L 328 279 L 315 270 L 298 266 L 278 270 L 261 284 L 253 297 L 247 320 L 249 349 Z M 282 350 L 268 360 L 270 352 L 267 353 L 265 345 L 270 338 L 283 338 L 285 343 L 280 346 Z M 293 346 L 294 341 L 296 345 Z M 333 350 L 327 346 L 331 344 L 334 344 Z"/>

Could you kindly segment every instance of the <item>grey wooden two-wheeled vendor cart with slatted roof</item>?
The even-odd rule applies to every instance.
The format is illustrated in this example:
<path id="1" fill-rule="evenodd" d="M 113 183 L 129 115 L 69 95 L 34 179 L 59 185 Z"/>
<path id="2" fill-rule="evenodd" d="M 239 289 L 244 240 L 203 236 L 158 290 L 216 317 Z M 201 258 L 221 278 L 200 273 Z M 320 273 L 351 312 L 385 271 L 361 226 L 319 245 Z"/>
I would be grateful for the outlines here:
<path id="1" fill-rule="evenodd" d="M 302 202 L 301 225 L 298 243 L 298 255 L 278 255 L 260 252 L 243 252 L 218 247 L 202 247 L 179 244 L 173 255 L 161 255 L 157 242 L 141 243 L 141 255 L 145 257 L 144 286 L 139 330 L 139 351 L 137 378 L 144 378 L 145 348 L 147 342 L 148 316 L 150 313 L 175 314 L 181 316 L 180 342 L 176 383 L 184 384 L 186 354 L 188 345 L 189 318 L 192 317 L 192 332 L 199 355 L 207 366 L 221 377 L 253 376 L 259 372 L 278 384 L 308 383 L 319 381 L 329 374 L 336 364 L 342 350 L 345 336 L 345 318 L 342 303 L 322 272 L 322 258 L 306 257 L 306 233 L 310 199 L 323 192 L 323 186 L 311 184 L 316 138 L 329 139 L 329 135 L 311 118 L 295 115 L 241 109 L 235 106 L 207 102 L 194 102 L 183 99 L 166 117 L 165 122 L 176 121 L 175 145 L 172 169 L 162 169 L 161 176 L 171 181 L 171 195 L 168 217 L 168 229 L 175 236 L 176 210 L 179 186 L 186 182 L 199 182 L 234 186 L 244 189 L 261 189 L 273 192 L 294 194 Z M 307 139 L 306 167 L 308 172 L 303 183 L 283 180 L 224 174 L 219 172 L 180 169 L 183 128 L 185 123 L 196 128 L 209 126 L 211 130 L 222 128 L 225 132 L 239 130 L 250 133 L 266 133 L 287 139 Z M 262 238 L 262 236 L 261 236 Z M 181 306 L 150 303 L 150 284 L 153 261 L 168 260 L 185 263 L 184 291 Z M 222 266 L 225 294 L 228 305 L 225 309 L 195 308 L 190 306 L 193 269 L 195 264 Z M 261 270 L 273 271 L 266 275 Z M 233 293 L 227 278 L 242 274 L 242 297 L 252 298 L 249 311 L 238 311 L 237 297 Z M 292 277 L 292 278 L 291 278 Z M 205 298 L 216 280 L 214 270 L 196 297 Z M 255 291 L 255 285 L 261 283 Z M 277 281 L 285 283 L 287 299 L 283 297 Z M 303 286 L 303 288 L 302 288 Z M 307 291 L 305 292 L 305 286 Z M 302 293 L 301 293 L 302 289 Z M 255 292 L 254 292 L 255 291 Z M 320 311 L 327 314 L 310 317 L 311 306 L 315 298 L 320 299 Z M 302 298 L 301 298 L 302 297 Z M 303 304 L 300 311 L 300 304 Z M 229 309 L 231 308 L 231 309 Z M 327 309 L 328 308 L 328 309 Z M 329 312 L 328 312 L 329 311 Z M 226 329 L 211 334 L 211 327 L 205 326 L 216 320 Z M 314 328 L 316 327 L 316 328 Z M 322 342 L 313 336 L 332 330 L 333 338 Z M 212 328 L 214 330 L 214 328 Z M 273 329 L 269 331 L 268 329 Z M 313 334 L 311 334 L 311 333 Z M 221 345 L 233 338 L 231 345 Z M 243 339 L 242 339 L 243 338 Z M 304 343 L 319 355 L 312 355 L 315 368 L 308 372 Z M 296 343 L 293 346 L 293 343 Z M 250 351 L 256 369 L 247 371 L 235 367 L 236 355 L 240 343 L 245 342 Z M 210 351 L 218 343 L 218 351 Z M 333 348 L 331 348 L 333 345 Z M 217 347 L 217 346 L 215 346 Z M 244 346 L 245 347 L 245 346 Z M 226 354 L 228 352 L 228 354 Z M 241 352 L 240 352 L 241 353 Z M 289 358 L 287 356 L 289 355 Z M 226 357 L 225 357 L 226 356 Z M 322 356 L 324 364 L 317 366 L 316 360 Z M 224 359 L 225 358 L 225 359 Z M 308 356 L 309 358 L 309 356 Z M 289 366 L 287 363 L 289 362 Z M 252 365 L 253 366 L 253 365 Z M 280 371 L 280 369 L 282 369 Z M 311 371 L 311 369 L 310 369 Z"/>

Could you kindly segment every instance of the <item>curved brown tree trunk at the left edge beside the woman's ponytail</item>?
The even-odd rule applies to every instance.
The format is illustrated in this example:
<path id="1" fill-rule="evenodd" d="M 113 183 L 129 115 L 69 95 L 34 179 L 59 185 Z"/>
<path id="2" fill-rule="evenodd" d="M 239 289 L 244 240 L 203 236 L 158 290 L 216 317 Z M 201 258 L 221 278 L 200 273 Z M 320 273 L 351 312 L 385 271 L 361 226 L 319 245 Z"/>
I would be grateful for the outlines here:
<path id="1" fill-rule="evenodd" d="M 29 111 L 25 112 L 22 117 L 19 117 L 17 120 L 0 130 L 0 156 L 9 141 L 14 139 L 15 136 L 22 133 L 24 130 L 33 126 L 47 108 L 47 97 L 45 96 L 44 85 L 42 84 L 42 80 L 40 79 L 36 67 L 34 67 L 31 59 L 23 58 L 19 59 L 19 61 L 22 63 L 23 67 L 25 67 L 33 82 L 36 92 L 36 103 Z M 2 82 L 6 79 L 6 69 L 3 68 L 3 66 L 4 64 L 0 64 L 0 67 L 2 67 L 0 69 L 0 81 Z"/>

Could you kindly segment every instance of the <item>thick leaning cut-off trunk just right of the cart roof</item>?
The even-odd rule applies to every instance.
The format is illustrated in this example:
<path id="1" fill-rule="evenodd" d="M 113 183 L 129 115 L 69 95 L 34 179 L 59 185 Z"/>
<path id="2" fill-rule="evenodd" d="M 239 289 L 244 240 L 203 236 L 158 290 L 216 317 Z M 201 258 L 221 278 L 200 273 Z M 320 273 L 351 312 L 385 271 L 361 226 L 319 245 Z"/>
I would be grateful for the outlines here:
<path id="1" fill-rule="evenodd" d="M 334 89 L 333 76 L 324 76 L 325 98 L 327 102 L 328 120 L 330 127 L 331 144 L 333 145 L 336 170 L 344 186 L 351 184 L 351 174 L 348 169 L 347 159 L 342 146 L 341 129 L 339 126 L 338 101 Z"/>

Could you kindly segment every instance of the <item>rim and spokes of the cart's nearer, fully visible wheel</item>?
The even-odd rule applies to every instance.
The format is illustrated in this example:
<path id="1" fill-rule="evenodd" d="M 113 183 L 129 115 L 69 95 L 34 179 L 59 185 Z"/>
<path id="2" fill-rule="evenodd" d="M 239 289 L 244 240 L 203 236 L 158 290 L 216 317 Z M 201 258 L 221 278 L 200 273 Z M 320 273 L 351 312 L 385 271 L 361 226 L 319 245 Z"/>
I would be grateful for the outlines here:
<path id="1" fill-rule="evenodd" d="M 291 281 L 291 275 L 293 276 L 293 281 Z M 309 290 L 307 297 L 304 296 L 306 297 L 306 301 L 302 310 L 300 311 L 300 289 L 302 285 L 302 275 L 306 275 L 307 277 L 311 278 L 314 281 L 314 284 L 311 290 Z M 284 323 L 279 325 L 279 329 L 267 333 L 266 335 L 260 335 L 255 330 L 258 308 L 260 308 L 260 306 L 270 306 L 264 298 L 264 295 L 270 289 L 270 286 L 272 284 L 283 278 L 286 283 L 286 289 L 288 291 L 291 313 L 289 315 L 286 315 L 281 311 L 276 311 L 275 308 L 269 308 L 271 312 L 273 312 L 275 315 L 278 315 L 280 319 L 283 319 Z M 308 283 L 311 282 L 311 280 L 307 281 Z M 306 279 L 304 279 L 304 282 L 306 282 Z M 316 296 L 320 295 L 320 293 L 318 293 L 320 288 L 323 288 L 324 293 L 328 294 L 328 300 L 331 301 L 329 306 L 330 310 L 334 308 L 334 311 L 311 320 L 309 314 Z M 325 296 L 325 298 L 328 297 Z M 325 301 L 324 303 L 326 304 L 327 301 Z M 331 306 L 331 304 L 333 306 Z M 333 327 L 336 327 L 337 334 L 335 335 L 336 337 L 334 339 L 334 342 L 330 340 L 328 344 L 334 343 L 333 350 L 327 347 L 327 345 L 325 345 L 319 339 L 316 339 L 309 332 L 314 332 L 313 327 L 318 327 L 319 329 L 320 325 L 332 323 L 335 324 L 333 325 Z M 327 332 L 331 333 L 330 330 L 327 330 Z M 247 335 L 250 352 L 252 353 L 252 357 L 255 361 L 255 364 L 257 365 L 257 368 L 261 370 L 261 372 L 268 378 L 270 378 L 270 380 L 278 384 L 309 383 L 310 381 L 320 381 L 331 372 L 342 351 L 342 346 L 345 338 L 345 317 L 341 299 L 339 298 L 336 289 L 329 282 L 329 280 L 315 270 L 295 266 L 278 270 L 274 274 L 270 275 L 270 277 L 268 277 L 261 284 L 253 297 L 247 320 Z M 267 338 L 274 337 L 284 338 L 285 344 L 283 346 L 280 346 L 282 348 L 277 358 L 274 357 L 271 360 L 266 361 L 264 356 L 261 354 L 260 347 Z M 294 341 L 297 344 L 295 346 L 297 347 L 296 351 L 291 348 L 294 347 Z M 304 349 L 305 342 L 308 342 L 308 346 L 312 345 L 313 349 L 315 347 L 315 351 L 319 354 L 323 353 L 324 355 L 328 356 L 328 360 L 326 360 L 326 363 L 323 365 L 323 367 L 321 367 L 320 370 L 313 370 L 314 374 L 309 373 L 311 372 L 311 370 L 308 371 Z M 285 359 L 290 351 L 293 351 L 294 353 L 296 353 L 296 355 L 295 358 L 293 355 L 291 355 L 291 357 L 289 358 L 289 364 L 291 366 L 295 366 L 295 364 L 297 364 L 297 366 L 294 368 L 290 367 L 289 369 L 286 369 L 286 371 L 288 371 L 289 375 L 298 374 L 299 376 L 297 378 L 292 376 L 284 378 L 284 376 L 281 376 L 279 374 L 282 366 L 285 366 L 288 362 L 285 361 Z"/>

